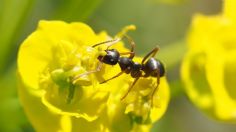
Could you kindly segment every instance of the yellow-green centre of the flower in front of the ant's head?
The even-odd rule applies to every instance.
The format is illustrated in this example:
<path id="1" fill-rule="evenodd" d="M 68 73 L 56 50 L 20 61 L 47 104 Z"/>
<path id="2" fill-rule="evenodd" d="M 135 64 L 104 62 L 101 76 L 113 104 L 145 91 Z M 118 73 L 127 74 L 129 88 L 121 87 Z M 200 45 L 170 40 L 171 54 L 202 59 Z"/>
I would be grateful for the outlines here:
<path id="1" fill-rule="evenodd" d="M 68 41 L 59 42 L 52 50 L 54 53 L 52 61 L 42 73 L 44 81 L 41 79 L 40 84 L 45 89 L 49 100 L 61 98 L 64 100 L 62 102 L 70 104 L 74 100 L 76 91 L 79 89 L 81 91 L 83 86 L 93 84 L 94 77 L 86 73 L 96 67 L 97 50 Z M 82 74 L 83 76 L 74 79 Z"/>

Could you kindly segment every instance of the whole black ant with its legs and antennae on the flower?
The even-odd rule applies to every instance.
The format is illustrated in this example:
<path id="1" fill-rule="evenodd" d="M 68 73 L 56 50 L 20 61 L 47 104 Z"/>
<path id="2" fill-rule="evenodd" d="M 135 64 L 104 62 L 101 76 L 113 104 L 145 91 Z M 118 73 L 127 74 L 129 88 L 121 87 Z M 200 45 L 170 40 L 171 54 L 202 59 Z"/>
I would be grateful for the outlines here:
<path id="1" fill-rule="evenodd" d="M 92 46 L 93 48 L 96 46 L 102 45 L 102 44 L 112 43 L 105 50 L 106 55 L 98 56 L 98 60 L 100 61 L 100 64 L 98 65 L 96 70 L 89 71 L 84 74 L 80 74 L 75 79 L 77 79 L 81 76 L 90 74 L 90 73 L 100 71 L 102 63 L 108 64 L 108 65 L 119 64 L 119 66 L 121 68 L 121 72 L 118 73 L 117 75 L 101 82 L 100 84 L 106 83 L 107 81 L 110 81 L 116 77 L 119 77 L 123 73 L 130 74 L 135 79 L 134 79 L 132 85 L 129 87 L 126 94 L 123 95 L 123 97 L 121 98 L 121 100 L 123 100 L 129 94 L 129 92 L 132 90 L 133 86 L 136 84 L 136 82 L 138 81 L 138 79 L 140 77 L 150 77 L 150 76 L 156 77 L 157 78 L 157 86 L 155 87 L 155 89 L 153 90 L 153 92 L 151 94 L 151 97 L 153 98 L 155 92 L 158 90 L 158 86 L 160 84 L 160 77 L 164 76 L 164 74 L 165 74 L 165 68 L 164 68 L 164 65 L 162 64 L 162 62 L 160 60 L 157 60 L 154 58 L 154 56 L 158 52 L 159 48 L 155 47 L 151 52 L 149 52 L 143 58 L 143 60 L 140 64 L 140 63 L 134 62 L 132 60 L 135 56 L 135 52 L 134 52 L 135 43 L 134 43 L 134 41 L 127 35 L 124 35 L 124 37 L 129 41 L 129 44 L 131 45 L 130 52 L 119 53 L 116 49 L 109 49 L 110 46 L 112 46 L 113 44 L 120 41 L 120 39 L 114 39 L 114 40 L 109 40 L 109 41 L 95 44 Z M 121 56 L 121 55 L 128 55 L 128 54 L 129 54 L 129 57 Z M 151 102 L 151 104 L 152 104 L 152 102 Z"/>

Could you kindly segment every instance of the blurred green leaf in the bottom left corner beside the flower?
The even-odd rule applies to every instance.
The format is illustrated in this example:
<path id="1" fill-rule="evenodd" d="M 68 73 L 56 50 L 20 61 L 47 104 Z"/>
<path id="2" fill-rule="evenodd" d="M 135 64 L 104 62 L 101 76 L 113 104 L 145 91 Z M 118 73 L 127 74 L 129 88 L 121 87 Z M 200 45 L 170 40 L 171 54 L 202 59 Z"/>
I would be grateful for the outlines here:
<path id="1" fill-rule="evenodd" d="M 17 97 L 16 65 L 6 71 L 0 80 L 0 131 L 23 132 L 31 131 L 32 127 L 27 121 L 23 108 Z"/>

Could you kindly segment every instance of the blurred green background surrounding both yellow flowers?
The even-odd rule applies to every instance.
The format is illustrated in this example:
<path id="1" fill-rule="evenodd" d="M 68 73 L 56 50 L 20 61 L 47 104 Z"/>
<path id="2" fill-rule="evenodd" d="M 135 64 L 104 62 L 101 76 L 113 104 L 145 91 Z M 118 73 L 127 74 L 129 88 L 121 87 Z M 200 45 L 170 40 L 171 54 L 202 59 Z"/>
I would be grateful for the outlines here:
<path id="1" fill-rule="evenodd" d="M 20 43 L 41 19 L 83 21 L 110 35 L 135 24 L 137 30 L 129 34 L 137 55 L 161 47 L 157 57 L 167 65 L 172 94 L 152 131 L 234 132 L 236 126 L 209 119 L 190 103 L 179 75 L 193 14 L 217 14 L 221 6 L 221 0 L 0 0 L 0 132 L 34 131 L 17 97 L 16 58 Z"/>

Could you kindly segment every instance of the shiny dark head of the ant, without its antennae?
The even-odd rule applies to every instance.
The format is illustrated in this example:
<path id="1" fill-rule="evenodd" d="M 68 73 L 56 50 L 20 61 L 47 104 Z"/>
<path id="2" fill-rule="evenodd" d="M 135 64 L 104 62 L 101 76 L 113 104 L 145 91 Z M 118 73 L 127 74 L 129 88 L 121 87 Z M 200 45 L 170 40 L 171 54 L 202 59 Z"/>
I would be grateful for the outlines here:
<path id="1" fill-rule="evenodd" d="M 105 55 L 99 55 L 98 60 L 109 65 L 116 65 L 120 58 L 120 53 L 116 49 L 105 50 Z"/>

